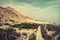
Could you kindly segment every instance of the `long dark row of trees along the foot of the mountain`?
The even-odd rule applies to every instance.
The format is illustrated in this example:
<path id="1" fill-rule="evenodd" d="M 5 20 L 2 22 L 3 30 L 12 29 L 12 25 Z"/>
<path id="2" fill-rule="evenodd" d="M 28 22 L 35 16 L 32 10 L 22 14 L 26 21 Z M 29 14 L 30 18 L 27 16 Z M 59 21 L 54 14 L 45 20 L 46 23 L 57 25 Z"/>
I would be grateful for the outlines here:
<path id="1" fill-rule="evenodd" d="M 39 24 L 31 24 L 31 23 L 21 23 L 21 24 L 14 24 L 11 27 L 17 27 L 22 29 L 36 29 L 38 28 Z"/>

